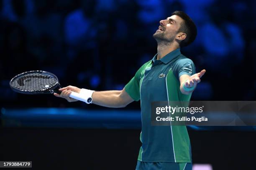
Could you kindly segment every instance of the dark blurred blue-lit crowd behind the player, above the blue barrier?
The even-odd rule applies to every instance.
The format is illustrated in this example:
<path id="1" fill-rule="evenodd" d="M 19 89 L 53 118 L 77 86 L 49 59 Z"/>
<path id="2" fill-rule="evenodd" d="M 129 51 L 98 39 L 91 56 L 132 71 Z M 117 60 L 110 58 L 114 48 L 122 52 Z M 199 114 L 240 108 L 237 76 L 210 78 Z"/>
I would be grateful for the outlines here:
<path id="1" fill-rule="evenodd" d="M 255 9 L 253 0 L 0 0 L 0 99 L 18 100 L 8 83 L 29 70 L 121 90 L 156 54 L 159 21 L 183 10 L 198 33 L 182 53 L 207 70 L 192 99 L 255 100 Z"/>

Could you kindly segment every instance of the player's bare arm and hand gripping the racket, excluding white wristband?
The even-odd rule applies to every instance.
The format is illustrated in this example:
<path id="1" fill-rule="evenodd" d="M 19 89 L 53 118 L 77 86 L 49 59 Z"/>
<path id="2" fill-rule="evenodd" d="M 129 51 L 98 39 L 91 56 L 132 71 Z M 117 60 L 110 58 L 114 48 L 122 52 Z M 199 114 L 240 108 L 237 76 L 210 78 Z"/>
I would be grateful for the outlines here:
<path id="1" fill-rule="evenodd" d="M 80 88 L 74 86 L 67 86 L 59 89 L 61 94 L 54 93 L 56 97 L 65 98 L 69 102 L 78 101 L 69 97 L 71 92 L 80 92 Z M 134 100 L 123 90 L 110 90 L 110 91 L 95 91 L 92 93 L 92 103 L 105 107 L 125 107 Z"/>

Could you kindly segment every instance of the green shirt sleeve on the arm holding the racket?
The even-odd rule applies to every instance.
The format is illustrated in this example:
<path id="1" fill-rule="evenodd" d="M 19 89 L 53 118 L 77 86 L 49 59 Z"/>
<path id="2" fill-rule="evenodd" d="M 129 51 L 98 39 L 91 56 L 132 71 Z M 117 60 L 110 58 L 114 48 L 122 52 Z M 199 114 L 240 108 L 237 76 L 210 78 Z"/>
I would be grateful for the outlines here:
<path id="1" fill-rule="evenodd" d="M 125 85 L 125 91 L 135 101 L 138 101 L 141 99 L 140 80 L 141 80 L 141 72 L 143 70 L 143 66 L 141 66 L 141 68 L 136 72 L 135 76 L 130 80 L 130 82 L 128 82 L 127 85 Z"/>

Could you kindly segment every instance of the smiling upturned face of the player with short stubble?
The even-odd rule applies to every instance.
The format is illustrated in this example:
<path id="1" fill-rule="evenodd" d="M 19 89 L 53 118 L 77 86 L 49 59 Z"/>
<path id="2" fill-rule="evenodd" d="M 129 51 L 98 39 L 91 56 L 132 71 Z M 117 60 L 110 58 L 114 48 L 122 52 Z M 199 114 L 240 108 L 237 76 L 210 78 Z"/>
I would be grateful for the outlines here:
<path id="1" fill-rule="evenodd" d="M 159 29 L 156 30 L 153 37 L 157 41 L 172 42 L 175 39 L 182 22 L 182 18 L 178 15 L 172 15 L 166 18 L 166 20 L 161 20 Z"/>

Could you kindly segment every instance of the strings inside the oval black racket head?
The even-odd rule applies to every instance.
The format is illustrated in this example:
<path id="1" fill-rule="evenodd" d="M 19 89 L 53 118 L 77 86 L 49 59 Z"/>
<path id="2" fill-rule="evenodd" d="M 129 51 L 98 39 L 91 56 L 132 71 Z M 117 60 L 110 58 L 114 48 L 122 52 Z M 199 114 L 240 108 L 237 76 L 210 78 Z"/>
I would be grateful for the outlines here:
<path id="1" fill-rule="evenodd" d="M 12 81 L 14 88 L 30 92 L 47 90 L 56 84 L 55 77 L 36 72 L 22 75 Z"/>

